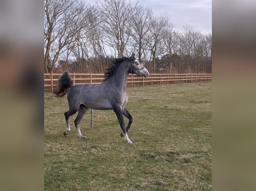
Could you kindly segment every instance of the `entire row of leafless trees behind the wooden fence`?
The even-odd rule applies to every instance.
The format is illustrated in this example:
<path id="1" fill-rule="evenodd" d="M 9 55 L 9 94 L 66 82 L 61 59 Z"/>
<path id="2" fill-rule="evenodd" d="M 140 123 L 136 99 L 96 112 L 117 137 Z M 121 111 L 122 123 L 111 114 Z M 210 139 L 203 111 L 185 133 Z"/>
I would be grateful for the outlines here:
<path id="1" fill-rule="evenodd" d="M 151 73 L 212 71 L 212 35 L 130 0 L 44 0 L 44 71 L 103 73 L 113 57 L 138 53 Z"/>

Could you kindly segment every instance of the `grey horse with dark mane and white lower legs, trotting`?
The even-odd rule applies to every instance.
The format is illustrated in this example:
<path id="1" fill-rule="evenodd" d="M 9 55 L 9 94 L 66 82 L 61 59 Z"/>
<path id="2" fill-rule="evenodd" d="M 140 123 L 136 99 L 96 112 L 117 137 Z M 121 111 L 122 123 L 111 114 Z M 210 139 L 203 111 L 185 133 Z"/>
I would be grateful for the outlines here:
<path id="1" fill-rule="evenodd" d="M 73 86 L 69 72 L 64 72 L 59 77 L 57 81 L 58 90 L 53 90 L 53 95 L 62 97 L 68 93 L 69 103 L 69 110 L 64 113 L 67 123 L 67 129 L 64 135 L 70 132 L 69 117 L 77 111 L 78 115 L 74 121 L 77 134 L 80 138 L 86 138 L 86 136 L 81 134 L 79 123 L 88 109 L 113 109 L 122 129 L 121 137 L 124 136 L 124 140 L 128 144 L 132 143 L 127 135 L 133 121 L 131 114 L 125 107 L 128 101 L 126 92 L 127 77 L 130 73 L 143 76 L 144 78 L 149 75 L 147 69 L 134 58 L 134 55 L 133 53 L 129 58 L 113 59 L 101 84 L 80 84 Z M 129 119 L 126 128 L 123 115 Z"/>

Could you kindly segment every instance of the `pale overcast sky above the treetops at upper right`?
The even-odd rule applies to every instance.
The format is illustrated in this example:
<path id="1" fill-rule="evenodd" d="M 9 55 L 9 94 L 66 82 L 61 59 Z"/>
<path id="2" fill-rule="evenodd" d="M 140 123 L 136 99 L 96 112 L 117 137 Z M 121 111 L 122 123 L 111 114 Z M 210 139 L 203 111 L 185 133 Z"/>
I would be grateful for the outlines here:
<path id="1" fill-rule="evenodd" d="M 131 0 L 136 2 L 136 0 Z M 191 25 L 204 34 L 212 33 L 212 0 L 140 0 L 156 15 L 166 13 L 175 28 Z"/>

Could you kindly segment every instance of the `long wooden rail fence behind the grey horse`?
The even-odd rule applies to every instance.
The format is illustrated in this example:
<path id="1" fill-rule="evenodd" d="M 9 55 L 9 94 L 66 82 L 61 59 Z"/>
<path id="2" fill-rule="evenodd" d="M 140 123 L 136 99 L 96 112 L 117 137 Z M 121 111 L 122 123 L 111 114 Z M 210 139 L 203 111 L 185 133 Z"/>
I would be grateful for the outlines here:
<path id="1" fill-rule="evenodd" d="M 56 81 L 61 74 L 44 74 L 44 90 L 53 90 Z M 104 74 L 77 74 L 71 73 L 71 79 L 74 85 L 78 84 L 100 84 L 104 80 Z M 136 85 L 154 85 L 154 84 L 175 84 L 175 83 L 192 83 L 192 82 L 209 82 L 212 81 L 212 74 L 149 74 L 144 79 L 137 75 L 128 76 L 127 86 Z"/>

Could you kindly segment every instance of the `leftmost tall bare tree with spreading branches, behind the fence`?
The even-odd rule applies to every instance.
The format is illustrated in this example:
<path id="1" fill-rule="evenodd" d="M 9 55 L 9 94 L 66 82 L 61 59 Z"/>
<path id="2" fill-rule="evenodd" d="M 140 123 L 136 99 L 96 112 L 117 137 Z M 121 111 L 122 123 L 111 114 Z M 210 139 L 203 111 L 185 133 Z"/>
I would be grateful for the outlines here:
<path id="1" fill-rule="evenodd" d="M 44 0 L 44 72 L 52 71 L 65 47 L 75 40 L 94 14 L 76 0 Z"/>

